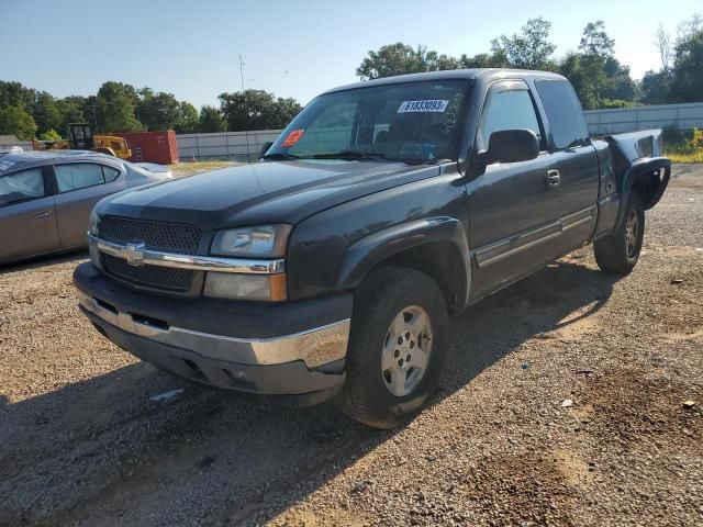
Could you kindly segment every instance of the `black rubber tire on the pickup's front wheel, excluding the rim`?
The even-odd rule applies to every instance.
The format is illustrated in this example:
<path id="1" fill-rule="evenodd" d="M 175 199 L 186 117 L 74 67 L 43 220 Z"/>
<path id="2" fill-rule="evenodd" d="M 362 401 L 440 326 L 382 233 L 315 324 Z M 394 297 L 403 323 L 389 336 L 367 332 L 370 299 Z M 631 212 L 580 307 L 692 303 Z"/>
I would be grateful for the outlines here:
<path id="1" fill-rule="evenodd" d="M 381 352 L 391 323 L 409 306 L 420 307 L 429 318 L 431 351 L 417 385 L 406 395 L 395 396 L 387 388 Z M 402 267 L 372 271 L 355 291 L 347 375 L 342 392 L 335 397 L 337 407 L 375 428 L 400 425 L 437 386 L 447 354 L 448 327 L 444 295 L 428 276 Z"/>

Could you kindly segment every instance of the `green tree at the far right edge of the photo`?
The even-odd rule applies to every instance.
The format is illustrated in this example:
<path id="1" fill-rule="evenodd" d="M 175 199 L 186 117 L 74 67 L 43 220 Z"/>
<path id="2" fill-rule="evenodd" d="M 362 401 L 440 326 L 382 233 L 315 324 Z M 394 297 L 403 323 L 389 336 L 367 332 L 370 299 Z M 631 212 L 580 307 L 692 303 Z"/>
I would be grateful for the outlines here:
<path id="1" fill-rule="evenodd" d="M 703 100 L 703 31 L 679 42 L 672 76 L 670 102 Z"/>

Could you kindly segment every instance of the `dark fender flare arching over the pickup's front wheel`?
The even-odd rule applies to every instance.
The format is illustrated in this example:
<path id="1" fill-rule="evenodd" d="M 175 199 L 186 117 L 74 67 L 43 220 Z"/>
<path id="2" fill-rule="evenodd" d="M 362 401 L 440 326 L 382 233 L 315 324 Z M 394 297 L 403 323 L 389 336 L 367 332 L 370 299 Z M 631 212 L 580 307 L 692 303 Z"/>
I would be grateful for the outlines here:
<path id="1" fill-rule="evenodd" d="M 468 304 L 471 262 L 466 231 L 457 218 L 412 221 L 359 239 L 347 250 L 337 287 L 354 289 L 369 272 L 384 266 L 408 267 L 429 276 L 451 314 Z"/>

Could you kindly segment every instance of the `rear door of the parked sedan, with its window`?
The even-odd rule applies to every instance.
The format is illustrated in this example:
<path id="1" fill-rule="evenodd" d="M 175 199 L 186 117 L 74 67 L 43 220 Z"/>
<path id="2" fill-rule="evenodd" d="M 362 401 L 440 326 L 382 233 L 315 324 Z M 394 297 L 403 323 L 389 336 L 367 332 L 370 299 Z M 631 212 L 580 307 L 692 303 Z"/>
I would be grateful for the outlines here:
<path id="1" fill-rule="evenodd" d="M 62 247 L 86 245 L 88 218 L 102 198 L 126 189 L 123 170 L 97 162 L 54 165 L 56 217 Z"/>

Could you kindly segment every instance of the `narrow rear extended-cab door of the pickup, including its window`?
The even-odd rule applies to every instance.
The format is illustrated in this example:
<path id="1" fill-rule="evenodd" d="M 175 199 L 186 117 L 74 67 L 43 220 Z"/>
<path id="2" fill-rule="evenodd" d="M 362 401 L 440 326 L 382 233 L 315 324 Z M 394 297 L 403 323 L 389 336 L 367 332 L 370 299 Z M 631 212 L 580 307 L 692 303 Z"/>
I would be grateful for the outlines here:
<path id="1" fill-rule="evenodd" d="M 600 167 L 579 99 L 565 79 L 535 80 L 547 116 L 549 168 L 559 190 L 561 239 L 559 255 L 588 242 L 596 221 Z"/>

